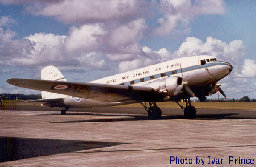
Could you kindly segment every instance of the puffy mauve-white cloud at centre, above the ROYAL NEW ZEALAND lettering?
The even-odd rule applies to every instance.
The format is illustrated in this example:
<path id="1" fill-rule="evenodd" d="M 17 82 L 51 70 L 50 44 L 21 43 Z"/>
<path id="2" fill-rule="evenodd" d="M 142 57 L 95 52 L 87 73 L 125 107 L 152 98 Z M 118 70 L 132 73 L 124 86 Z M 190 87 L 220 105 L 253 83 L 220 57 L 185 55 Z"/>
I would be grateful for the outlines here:
<path id="1" fill-rule="evenodd" d="M 131 60 L 137 54 L 141 54 L 142 46 L 137 41 L 143 37 L 147 28 L 144 19 L 137 19 L 109 31 L 103 47 L 108 59 L 111 61 Z"/>

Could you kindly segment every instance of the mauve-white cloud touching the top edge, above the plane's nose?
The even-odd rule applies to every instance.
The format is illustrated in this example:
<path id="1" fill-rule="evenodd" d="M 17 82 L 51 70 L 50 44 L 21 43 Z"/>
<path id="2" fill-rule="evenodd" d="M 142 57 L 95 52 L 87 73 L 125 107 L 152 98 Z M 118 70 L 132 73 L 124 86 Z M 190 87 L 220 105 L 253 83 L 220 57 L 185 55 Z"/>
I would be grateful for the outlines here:
<path id="1" fill-rule="evenodd" d="M 166 36 L 173 33 L 188 33 L 188 23 L 199 14 L 223 14 L 223 0 L 160 0 L 159 11 L 163 17 L 158 19 L 159 27 L 154 34 Z"/>

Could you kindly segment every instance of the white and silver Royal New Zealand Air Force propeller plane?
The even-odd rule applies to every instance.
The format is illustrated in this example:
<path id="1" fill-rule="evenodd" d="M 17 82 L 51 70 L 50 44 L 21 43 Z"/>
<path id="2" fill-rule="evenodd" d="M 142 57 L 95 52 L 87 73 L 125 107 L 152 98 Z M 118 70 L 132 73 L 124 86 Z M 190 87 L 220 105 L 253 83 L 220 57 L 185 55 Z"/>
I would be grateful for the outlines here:
<path id="1" fill-rule="evenodd" d="M 149 119 L 160 119 L 162 112 L 156 102 L 179 101 L 177 104 L 188 119 L 196 117 L 190 97 L 204 101 L 217 91 L 224 96 L 217 81 L 232 71 L 232 65 L 218 61 L 214 56 L 201 55 L 150 65 L 144 68 L 108 76 L 91 82 L 66 82 L 53 65 L 41 70 L 40 79 L 8 79 L 11 85 L 42 91 L 42 102 L 51 107 L 103 107 L 140 102 L 148 112 Z M 146 105 L 149 103 L 149 106 Z"/>

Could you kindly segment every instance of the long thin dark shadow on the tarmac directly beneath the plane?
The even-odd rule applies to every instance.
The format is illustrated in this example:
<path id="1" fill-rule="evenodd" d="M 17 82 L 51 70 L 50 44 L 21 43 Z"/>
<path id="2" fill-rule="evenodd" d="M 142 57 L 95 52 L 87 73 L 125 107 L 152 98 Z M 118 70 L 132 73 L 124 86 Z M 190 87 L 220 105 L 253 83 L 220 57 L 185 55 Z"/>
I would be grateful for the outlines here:
<path id="1" fill-rule="evenodd" d="M 105 118 L 105 119 L 85 119 L 85 120 L 72 120 L 72 121 L 60 121 L 60 122 L 50 122 L 50 123 L 81 123 L 81 122 L 113 122 L 113 121 L 140 121 L 148 120 L 147 115 L 132 115 L 132 114 L 96 114 L 96 113 L 70 113 L 70 115 L 96 115 L 96 116 L 122 116 L 121 118 Z M 218 113 L 218 114 L 202 114 L 197 115 L 196 119 L 231 119 L 226 116 L 239 115 L 238 113 Z M 172 116 L 162 116 L 161 119 L 185 119 L 184 115 L 172 115 Z M 241 119 L 234 118 L 232 119 Z"/>

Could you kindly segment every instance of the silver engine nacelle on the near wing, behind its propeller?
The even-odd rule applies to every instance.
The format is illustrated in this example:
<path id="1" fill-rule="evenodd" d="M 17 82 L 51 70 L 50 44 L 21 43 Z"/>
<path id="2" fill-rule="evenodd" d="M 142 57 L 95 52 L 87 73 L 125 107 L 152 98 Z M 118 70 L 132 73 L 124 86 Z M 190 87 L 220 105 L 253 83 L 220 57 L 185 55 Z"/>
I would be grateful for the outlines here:
<path id="1" fill-rule="evenodd" d="M 162 79 L 158 79 L 153 82 L 149 82 L 145 86 L 149 86 L 154 89 L 154 91 L 158 91 L 159 93 L 165 93 L 166 96 L 173 95 L 175 89 L 178 85 L 182 84 L 182 78 L 178 76 L 173 77 L 165 77 Z"/>

